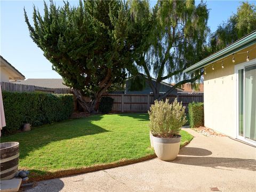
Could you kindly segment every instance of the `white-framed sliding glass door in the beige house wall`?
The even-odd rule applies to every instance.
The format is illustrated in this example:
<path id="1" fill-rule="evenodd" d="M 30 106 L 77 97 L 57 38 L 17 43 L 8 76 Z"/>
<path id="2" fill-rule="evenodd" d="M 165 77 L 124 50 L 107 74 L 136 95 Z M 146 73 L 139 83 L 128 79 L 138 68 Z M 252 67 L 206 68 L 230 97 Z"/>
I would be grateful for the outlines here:
<path id="1" fill-rule="evenodd" d="M 237 129 L 239 139 L 256 143 L 256 61 L 237 68 Z"/>

